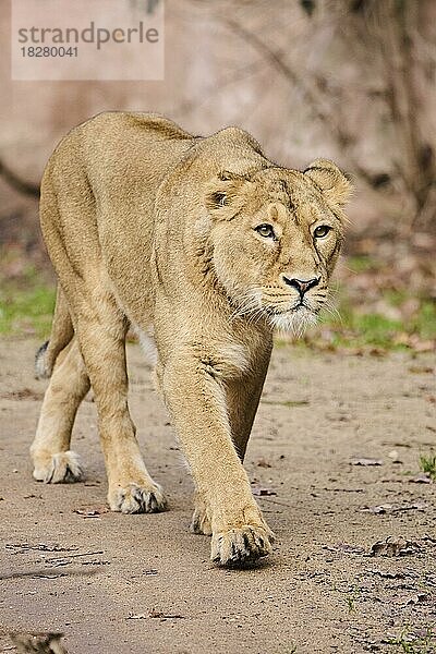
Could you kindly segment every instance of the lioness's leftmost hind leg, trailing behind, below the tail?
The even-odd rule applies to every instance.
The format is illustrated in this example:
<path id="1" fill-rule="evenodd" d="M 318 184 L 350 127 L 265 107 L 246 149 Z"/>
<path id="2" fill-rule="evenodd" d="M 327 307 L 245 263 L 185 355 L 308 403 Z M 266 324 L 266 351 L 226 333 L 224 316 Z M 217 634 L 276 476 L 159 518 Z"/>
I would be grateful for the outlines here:
<path id="1" fill-rule="evenodd" d="M 31 447 L 35 480 L 59 484 L 82 479 L 80 458 L 70 450 L 70 440 L 75 414 L 88 389 L 89 378 L 73 339 L 59 354 L 44 398 Z"/>

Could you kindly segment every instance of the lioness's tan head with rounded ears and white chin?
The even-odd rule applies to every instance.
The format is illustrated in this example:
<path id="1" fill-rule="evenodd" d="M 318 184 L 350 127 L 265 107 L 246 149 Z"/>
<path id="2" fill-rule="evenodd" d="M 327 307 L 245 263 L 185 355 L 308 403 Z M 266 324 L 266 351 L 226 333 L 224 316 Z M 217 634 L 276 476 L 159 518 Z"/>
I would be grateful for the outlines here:
<path id="1" fill-rule="evenodd" d="M 233 315 L 302 332 L 328 303 L 349 182 L 329 161 L 304 173 L 271 168 L 221 178 L 206 204 L 213 265 Z"/>

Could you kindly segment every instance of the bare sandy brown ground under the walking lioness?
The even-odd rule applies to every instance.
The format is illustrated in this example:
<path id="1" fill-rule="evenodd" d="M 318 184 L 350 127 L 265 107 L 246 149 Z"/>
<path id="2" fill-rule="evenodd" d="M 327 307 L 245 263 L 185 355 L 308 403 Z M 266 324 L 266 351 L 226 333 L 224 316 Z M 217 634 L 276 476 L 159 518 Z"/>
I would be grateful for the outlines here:
<path id="1" fill-rule="evenodd" d="M 412 482 L 436 441 L 432 355 L 276 348 L 246 469 L 278 540 L 268 562 L 233 571 L 187 531 L 192 482 L 136 346 L 132 413 L 170 510 L 107 511 L 92 401 L 73 444 L 86 481 L 33 481 L 37 344 L 0 347 L 0 651 L 15 651 L 10 631 L 63 632 L 70 654 L 436 651 L 436 485 Z M 400 556 L 370 556 L 388 536 Z"/>

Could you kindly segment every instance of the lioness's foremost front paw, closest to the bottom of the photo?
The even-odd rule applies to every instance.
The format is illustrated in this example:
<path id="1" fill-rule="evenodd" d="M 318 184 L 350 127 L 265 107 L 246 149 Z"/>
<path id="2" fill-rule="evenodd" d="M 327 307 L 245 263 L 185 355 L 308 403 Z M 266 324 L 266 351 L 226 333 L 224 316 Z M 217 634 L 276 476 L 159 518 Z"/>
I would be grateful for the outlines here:
<path id="1" fill-rule="evenodd" d="M 210 559 L 219 566 L 244 567 L 271 554 L 274 534 L 265 525 L 243 524 L 219 531 L 211 537 Z"/>

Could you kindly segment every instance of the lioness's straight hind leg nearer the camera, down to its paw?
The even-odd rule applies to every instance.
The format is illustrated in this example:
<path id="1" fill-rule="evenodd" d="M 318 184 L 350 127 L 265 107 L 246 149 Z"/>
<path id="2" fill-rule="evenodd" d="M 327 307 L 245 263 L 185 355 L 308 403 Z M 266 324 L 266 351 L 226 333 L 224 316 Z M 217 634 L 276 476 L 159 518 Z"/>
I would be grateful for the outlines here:
<path id="1" fill-rule="evenodd" d="M 94 390 L 112 511 L 154 513 L 166 508 L 149 475 L 129 411 L 125 332 L 128 323 L 106 282 L 74 296 L 76 335 Z"/>

